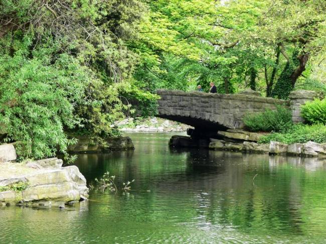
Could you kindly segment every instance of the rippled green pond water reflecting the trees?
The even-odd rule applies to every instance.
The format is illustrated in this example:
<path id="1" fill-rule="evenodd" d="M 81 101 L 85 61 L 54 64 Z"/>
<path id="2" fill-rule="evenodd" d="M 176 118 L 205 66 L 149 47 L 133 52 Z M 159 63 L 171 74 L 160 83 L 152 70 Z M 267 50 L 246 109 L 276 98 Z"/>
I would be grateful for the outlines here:
<path id="1" fill-rule="evenodd" d="M 0 208 L 0 243 L 326 242 L 323 161 L 170 150 L 172 134 L 129 136 L 135 151 L 79 155 L 76 165 L 91 184 L 106 171 L 119 188 L 134 179 L 130 193 L 93 190 L 62 210 Z"/>

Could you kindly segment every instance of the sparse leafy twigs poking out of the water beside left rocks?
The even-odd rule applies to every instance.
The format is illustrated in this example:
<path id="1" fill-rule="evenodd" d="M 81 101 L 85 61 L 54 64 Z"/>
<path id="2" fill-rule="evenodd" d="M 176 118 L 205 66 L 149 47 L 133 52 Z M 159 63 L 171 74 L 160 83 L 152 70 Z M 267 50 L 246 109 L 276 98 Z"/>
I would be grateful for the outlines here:
<path id="1" fill-rule="evenodd" d="M 109 190 L 111 192 L 117 192 L 118 187 L 116 186 L 114 180 L 115 180 L 115 175 L 110 175 L 110 172 L 105 172 L 100 179 L 95 178 L 97 185 L 95 187 L 90 186 L 90 188 L 91 189 L 95 188 L 100 191 Z M 130 191 L 130 189 L 131 189 L 130 184 L 134 181 L 135 180 L 123 182 L 122 183 L 123 187 L 121 189 L 124 192 Z"/>

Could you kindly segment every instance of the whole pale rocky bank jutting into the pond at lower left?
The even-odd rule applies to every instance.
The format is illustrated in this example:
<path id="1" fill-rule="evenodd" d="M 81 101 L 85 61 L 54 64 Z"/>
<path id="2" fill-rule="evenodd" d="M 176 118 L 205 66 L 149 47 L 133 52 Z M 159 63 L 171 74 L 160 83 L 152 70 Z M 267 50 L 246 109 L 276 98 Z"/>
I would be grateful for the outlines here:
<path id="1" fill-rule="evenodd" d="M 12 144 L 0 145 L 0 206 L 58 206 L 88 198 L 78 167 L 57 158 L 16 163 Z"/>

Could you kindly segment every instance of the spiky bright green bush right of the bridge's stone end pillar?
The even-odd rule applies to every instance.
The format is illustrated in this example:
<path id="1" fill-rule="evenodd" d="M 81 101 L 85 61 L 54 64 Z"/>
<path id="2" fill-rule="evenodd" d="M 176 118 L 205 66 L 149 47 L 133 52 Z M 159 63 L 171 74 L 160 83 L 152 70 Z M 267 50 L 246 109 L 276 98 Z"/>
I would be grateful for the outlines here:
<path id="1" fill-rule="evenodd" d="M 301 106 L 301 115 L 309 124 L 326 124 L 326 99 L 315 99 Z"/>

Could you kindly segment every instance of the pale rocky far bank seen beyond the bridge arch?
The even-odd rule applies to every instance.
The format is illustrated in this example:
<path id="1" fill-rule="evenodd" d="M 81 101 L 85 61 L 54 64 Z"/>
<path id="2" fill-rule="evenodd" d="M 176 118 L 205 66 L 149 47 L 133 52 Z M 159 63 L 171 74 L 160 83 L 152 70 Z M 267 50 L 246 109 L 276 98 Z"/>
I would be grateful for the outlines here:
<path id="1" fill-rule="evenodd" d="M 192 128 L 172 120 L 157 117 L 126 118 L 115 125 L 121 132 L 185 132 Z"/>

